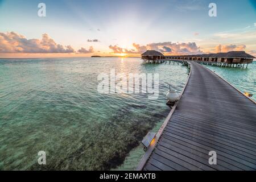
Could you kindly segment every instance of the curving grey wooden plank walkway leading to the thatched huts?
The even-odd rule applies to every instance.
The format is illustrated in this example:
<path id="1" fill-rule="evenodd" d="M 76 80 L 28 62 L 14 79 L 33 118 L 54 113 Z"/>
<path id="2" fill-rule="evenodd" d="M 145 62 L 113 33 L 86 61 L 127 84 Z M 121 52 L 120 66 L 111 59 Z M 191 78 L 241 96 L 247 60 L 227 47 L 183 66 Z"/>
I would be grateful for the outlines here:
<path id="1" fill-rule="evenodd" d="M 217 152 L 216 165 L 209 151 Z M 183 96 L 144 158 L 144 170 L 255 170 L 255 102 L 191 62 Z"/>

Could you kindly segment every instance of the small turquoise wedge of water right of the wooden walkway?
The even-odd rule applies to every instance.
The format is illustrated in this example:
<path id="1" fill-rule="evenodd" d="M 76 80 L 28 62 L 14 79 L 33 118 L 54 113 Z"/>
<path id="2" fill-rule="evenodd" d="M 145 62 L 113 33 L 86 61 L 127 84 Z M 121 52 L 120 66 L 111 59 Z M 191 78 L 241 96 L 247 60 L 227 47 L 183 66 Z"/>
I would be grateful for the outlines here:
<path id="1" fill-rule="evenodd" d="M 225 68 L 206 65 L 207 68 L 216 72 L 226 81 L 230 82 L 242 93 L 249 92 L 253 94 L 253 100 L 256 101 L 256 60 L 245 68 Z"/>

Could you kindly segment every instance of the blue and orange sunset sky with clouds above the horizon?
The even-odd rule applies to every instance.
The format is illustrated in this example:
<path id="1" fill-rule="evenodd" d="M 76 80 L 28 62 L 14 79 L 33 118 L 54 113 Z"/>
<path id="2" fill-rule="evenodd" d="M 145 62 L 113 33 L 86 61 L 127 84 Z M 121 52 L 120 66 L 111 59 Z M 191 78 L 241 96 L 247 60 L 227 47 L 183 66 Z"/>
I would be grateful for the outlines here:
<path id="1" fill-rule="evenodd" d="M 217 16 L 209 16 L 210 3 Z M 147 49 L 256 56 L 256 1 L 0 0 L 0 57 L 139 56 Z"/>

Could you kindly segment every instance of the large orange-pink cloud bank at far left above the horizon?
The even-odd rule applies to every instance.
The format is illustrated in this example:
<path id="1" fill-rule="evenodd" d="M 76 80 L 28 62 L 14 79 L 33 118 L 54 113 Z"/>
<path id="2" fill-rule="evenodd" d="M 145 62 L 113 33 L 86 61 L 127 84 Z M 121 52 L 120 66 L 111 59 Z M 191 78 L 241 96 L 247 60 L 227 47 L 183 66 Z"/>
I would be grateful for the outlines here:
<path id="1" fill-rule="evenodd" d="M 57 44 L 47 34 L 42 39 L 27 39 L 15 32 L 0 32 L 0 53 L 71 53 L 71 46 Z"/>

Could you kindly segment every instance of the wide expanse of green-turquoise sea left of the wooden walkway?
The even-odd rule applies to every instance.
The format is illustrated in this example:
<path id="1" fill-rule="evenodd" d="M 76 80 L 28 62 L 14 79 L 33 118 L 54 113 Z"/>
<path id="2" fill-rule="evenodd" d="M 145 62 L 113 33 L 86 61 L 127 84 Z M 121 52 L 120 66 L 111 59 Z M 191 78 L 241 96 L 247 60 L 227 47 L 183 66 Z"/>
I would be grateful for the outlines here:
<path id="1" fill-rule="evenodd" d="M 159 97 L 99 93 L 100 73 L 159 73 Z M 134 169 L 139 146 L 181 92 L 188 68 L 138 58 L 0 60 L 0 169 Z M 46 151 L 46 165 L 38 152 Z"/>

